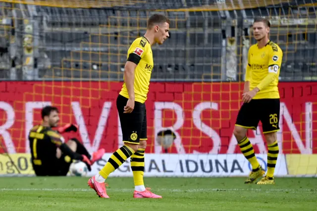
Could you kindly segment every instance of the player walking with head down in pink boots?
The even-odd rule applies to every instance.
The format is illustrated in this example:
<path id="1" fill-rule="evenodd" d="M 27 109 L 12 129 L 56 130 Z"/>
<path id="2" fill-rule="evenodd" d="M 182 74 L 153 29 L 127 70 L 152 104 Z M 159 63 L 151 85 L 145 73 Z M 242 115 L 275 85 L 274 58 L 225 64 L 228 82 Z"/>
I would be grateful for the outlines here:
<path id="1" fill-rule="evenodd" d="M 152 15 L 145 35 L 137 38 L 128 50 L 124 83 L 116 101 L 124 145 L 112 154 L 97 175 L 88 180 L 88 185 L 101 198 L 109 198 L 105 187 L 108 175 L 129 157 L 135 185 L 133 197 L 162 198 L 146 189 L 143 182 L 144 152 L 147 146 L 145 101 L 154 66 L 151 46 L 163 44 L 169 37 L 168 31 L 169 20 L 163 15 Z"/>

